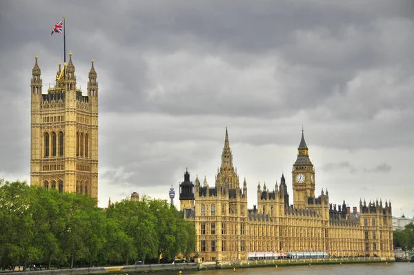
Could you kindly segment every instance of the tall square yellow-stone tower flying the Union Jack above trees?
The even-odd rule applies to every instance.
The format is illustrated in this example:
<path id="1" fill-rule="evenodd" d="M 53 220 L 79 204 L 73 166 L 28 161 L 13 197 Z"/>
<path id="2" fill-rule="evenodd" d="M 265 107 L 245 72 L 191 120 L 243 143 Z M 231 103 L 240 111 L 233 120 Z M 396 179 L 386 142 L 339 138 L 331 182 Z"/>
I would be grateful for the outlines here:
<path id="1" fill-rule="evenodd" d="M 77 88 L 72 53 L 59 63 L 55 87 L 43 93 L 37 64 L 31 79 L 30 184 L 98 196 L 98 82 L 89 71 L 88 95 Z"/>

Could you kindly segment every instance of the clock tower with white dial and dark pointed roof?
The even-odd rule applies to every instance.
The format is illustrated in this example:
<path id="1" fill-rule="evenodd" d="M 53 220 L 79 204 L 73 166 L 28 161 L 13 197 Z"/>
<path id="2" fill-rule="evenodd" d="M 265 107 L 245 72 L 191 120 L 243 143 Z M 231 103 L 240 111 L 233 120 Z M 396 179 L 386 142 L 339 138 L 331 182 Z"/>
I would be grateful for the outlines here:
<path id="1" fill-rule="evenodd" d="M 309 160 L 308 146 L 302 129 L 302 139 L 297 148 L 297 159 L 292 169 L 293 202 L 295 208 L 305 209 L 309 198 L 315 198 L 315 169 Z"/>

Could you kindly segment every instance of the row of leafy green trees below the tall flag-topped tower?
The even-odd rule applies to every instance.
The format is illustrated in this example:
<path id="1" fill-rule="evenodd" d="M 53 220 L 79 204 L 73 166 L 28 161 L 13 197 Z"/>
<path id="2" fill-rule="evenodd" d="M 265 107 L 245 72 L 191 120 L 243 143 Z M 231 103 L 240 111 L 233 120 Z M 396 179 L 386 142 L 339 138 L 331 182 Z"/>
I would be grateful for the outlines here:
<path id="1" fill-rule="evenodd" d="M 0 179 L 0 266 L 166 262 L 195 250 L 195 227 L 166 200 L 96 206 L 76 193 Z"/>

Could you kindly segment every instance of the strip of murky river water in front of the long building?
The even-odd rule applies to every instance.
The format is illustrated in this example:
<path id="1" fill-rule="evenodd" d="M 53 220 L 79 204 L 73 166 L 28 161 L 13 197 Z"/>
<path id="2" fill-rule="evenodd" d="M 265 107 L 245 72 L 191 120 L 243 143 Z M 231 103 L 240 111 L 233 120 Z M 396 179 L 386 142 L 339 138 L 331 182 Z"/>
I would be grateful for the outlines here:
<path id="1" fill-rule="evenodd" d="M 157 272 L 159 275 L 177 275 L 178 272 Z M 374 275 L 414 275 L 414 263 L 359 263 L 344 265 L 312 265 L 308 266 L 290 266 L 290 267 L 256 267 L 236 269 L 217 269 L 206 271 L 183 271 L 183 275 L 224 275 L 224 274 L 242 274 L 242 275 L 267 275 L 267 274 L 317 274 L 317 275 L 352 275 L 352 274 L 374 274 Z"/>

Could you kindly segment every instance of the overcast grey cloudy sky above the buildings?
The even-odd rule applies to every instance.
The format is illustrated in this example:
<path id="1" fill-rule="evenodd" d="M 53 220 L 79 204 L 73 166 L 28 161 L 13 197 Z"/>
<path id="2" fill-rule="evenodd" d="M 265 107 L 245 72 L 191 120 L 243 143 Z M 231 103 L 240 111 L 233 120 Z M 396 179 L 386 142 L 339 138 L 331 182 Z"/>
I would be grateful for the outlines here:
<path id="1" fill-rule="evenodd" d="M 0 178 L 30 180 L 30 77 L 67 49 L 99 81 L 99 206 L 214 185 L 224 133 L 248 205 L 291 169 L 302 125 L 317 194 L 414 215 L 413 1 L 0 1 Z M 43 91 L 46 91 L 43 90 Z"/>

